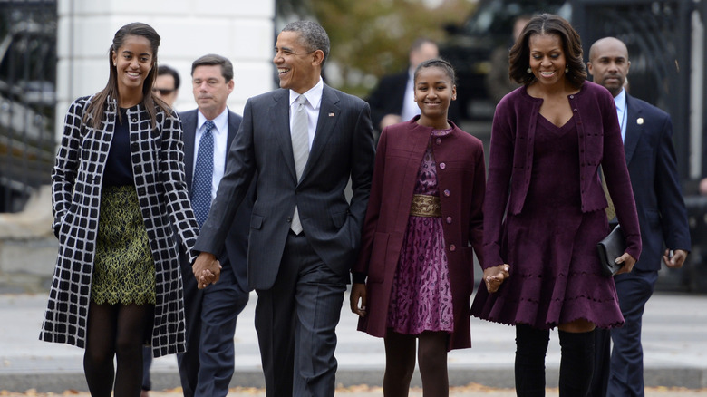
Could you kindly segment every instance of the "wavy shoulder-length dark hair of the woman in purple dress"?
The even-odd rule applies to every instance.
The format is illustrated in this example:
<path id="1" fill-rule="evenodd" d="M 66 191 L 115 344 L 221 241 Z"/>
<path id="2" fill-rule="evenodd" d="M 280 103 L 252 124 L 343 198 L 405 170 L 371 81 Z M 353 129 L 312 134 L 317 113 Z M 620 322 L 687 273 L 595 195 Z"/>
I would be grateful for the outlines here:
<path id="1" fill-rule="evenodd" d="M 529 85 L 535 82 L 535 75 L 528 73 L 530 67 L 530 36 L 533 34 L 556 34 L 562 42 L 565 53 L 567 80 L 576 88 L 586 80 L 585 63 L 582 60 L 582 42 L 579 34 L 564 18 L 553 14 L 539 14 L 530 18 L 518 40 L 508 54 L 508 75 L 515 82 Z"/>

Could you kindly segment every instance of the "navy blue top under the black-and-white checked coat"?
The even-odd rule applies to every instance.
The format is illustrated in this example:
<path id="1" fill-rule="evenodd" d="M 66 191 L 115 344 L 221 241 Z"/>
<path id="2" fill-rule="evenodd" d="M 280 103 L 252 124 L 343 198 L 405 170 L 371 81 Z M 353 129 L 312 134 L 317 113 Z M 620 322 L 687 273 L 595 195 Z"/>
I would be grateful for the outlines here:
<path id="1" fill-rule="evenodd" d="M 115 131 L 111 141 L 111 150 L 103 172 L 103 186 L 131 186 L 131 131 L 128 110 L 121 108 L 121 117 L 115 122 Z"/>

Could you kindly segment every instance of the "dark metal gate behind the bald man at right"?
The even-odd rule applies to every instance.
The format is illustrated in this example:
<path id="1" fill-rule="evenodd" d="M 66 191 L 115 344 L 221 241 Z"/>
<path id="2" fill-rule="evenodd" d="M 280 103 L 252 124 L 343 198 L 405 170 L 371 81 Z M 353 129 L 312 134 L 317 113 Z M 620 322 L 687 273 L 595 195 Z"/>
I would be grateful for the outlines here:
<path id="1" fill-rule="evenodd" d="M 575 0 L 573 24 L 589 47 L 614 36 L 628 47 L 629 91 L 670 113 L 678 172 L 690 179 L 691 0 Z"/>

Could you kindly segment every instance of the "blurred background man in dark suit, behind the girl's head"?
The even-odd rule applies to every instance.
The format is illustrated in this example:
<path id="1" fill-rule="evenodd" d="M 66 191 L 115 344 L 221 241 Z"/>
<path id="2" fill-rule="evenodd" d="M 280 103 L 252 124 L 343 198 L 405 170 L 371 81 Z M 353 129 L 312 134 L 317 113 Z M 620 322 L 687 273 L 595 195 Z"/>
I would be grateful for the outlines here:
<path id="1" fill-rule="evenodd" d="M 378 131 L 389 125 L 408 121 L 420 114 L 420 108 L 415 103 L 412 87 L 413 74 L 417 65 L 428 59 L 437 58 L 439 48 L 430 39 L 419 38 L 410 47 L 410 67 L 401 73 L 383 76 L 381 82 L 368 97 L 371 105 L 373 127 Z"/>

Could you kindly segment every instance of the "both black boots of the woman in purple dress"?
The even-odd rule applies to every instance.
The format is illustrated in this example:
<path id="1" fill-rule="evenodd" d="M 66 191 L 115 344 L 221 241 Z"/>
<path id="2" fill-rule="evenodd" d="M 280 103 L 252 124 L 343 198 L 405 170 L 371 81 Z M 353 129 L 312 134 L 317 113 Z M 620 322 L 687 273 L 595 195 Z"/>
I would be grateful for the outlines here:
<path id="1" fill-rule="evenodd" d="M 584 396 L 594 371 L 594 331 L 559 331 L 560 397 Z M 550 332 L 528 324 L 516 325 L 516 394 L 519 397 L 545 396 L 545 354 Z"/>

